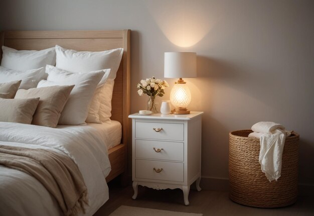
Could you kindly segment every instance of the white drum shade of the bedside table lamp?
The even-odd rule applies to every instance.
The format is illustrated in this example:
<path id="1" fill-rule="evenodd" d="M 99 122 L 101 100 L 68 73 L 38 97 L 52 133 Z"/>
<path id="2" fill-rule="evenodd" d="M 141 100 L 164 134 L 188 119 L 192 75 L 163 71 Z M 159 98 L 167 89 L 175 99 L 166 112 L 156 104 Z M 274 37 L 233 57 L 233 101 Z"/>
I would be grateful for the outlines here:
<path id="1" fill-rule="evenodd" d="M 166 52 L 164 77 L 196 77 L 196 53 Z"/>

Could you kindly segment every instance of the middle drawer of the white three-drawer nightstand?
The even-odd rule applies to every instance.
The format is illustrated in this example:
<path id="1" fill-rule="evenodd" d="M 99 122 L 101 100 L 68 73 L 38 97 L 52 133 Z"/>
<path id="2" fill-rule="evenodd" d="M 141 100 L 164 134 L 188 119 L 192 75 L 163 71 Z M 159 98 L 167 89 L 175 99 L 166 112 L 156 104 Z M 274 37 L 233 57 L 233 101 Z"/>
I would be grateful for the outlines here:
<path id="1" fill-rule="evenodd" d="M 135 140 L 135 157 L 184 161 L 184 143 Z"/>

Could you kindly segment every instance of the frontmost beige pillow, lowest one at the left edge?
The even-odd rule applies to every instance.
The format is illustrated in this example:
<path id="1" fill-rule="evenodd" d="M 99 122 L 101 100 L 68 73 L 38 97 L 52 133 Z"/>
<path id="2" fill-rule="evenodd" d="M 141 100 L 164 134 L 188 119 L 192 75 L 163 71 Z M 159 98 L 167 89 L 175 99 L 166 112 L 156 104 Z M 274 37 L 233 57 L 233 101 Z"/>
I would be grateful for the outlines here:
<path id="1" fill-rule="evenodd" d="M 0 122 L 31 124 L 39 97 L 28 99 L 0 98 Z"/>

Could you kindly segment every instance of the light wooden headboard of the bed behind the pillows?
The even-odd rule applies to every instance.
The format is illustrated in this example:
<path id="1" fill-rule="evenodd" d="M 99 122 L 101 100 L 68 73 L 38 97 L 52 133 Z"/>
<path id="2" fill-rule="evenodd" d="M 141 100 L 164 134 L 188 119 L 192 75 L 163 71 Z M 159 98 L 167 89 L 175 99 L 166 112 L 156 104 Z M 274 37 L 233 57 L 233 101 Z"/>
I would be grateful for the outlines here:
<path id="1" fill-rule="evenodd" d="M 130 114 L 130 30 L 121 31 L 6 31 L 0 45 L 17 50 L 42 50 L 55 45 L 78 51 L 103 51 L 122 47 L 120 67 L 115 78 L 111 119 L 122 124 L 121 143 L 127 143 Z M 2 57 L 2 49 L 1 49 Z"/>

